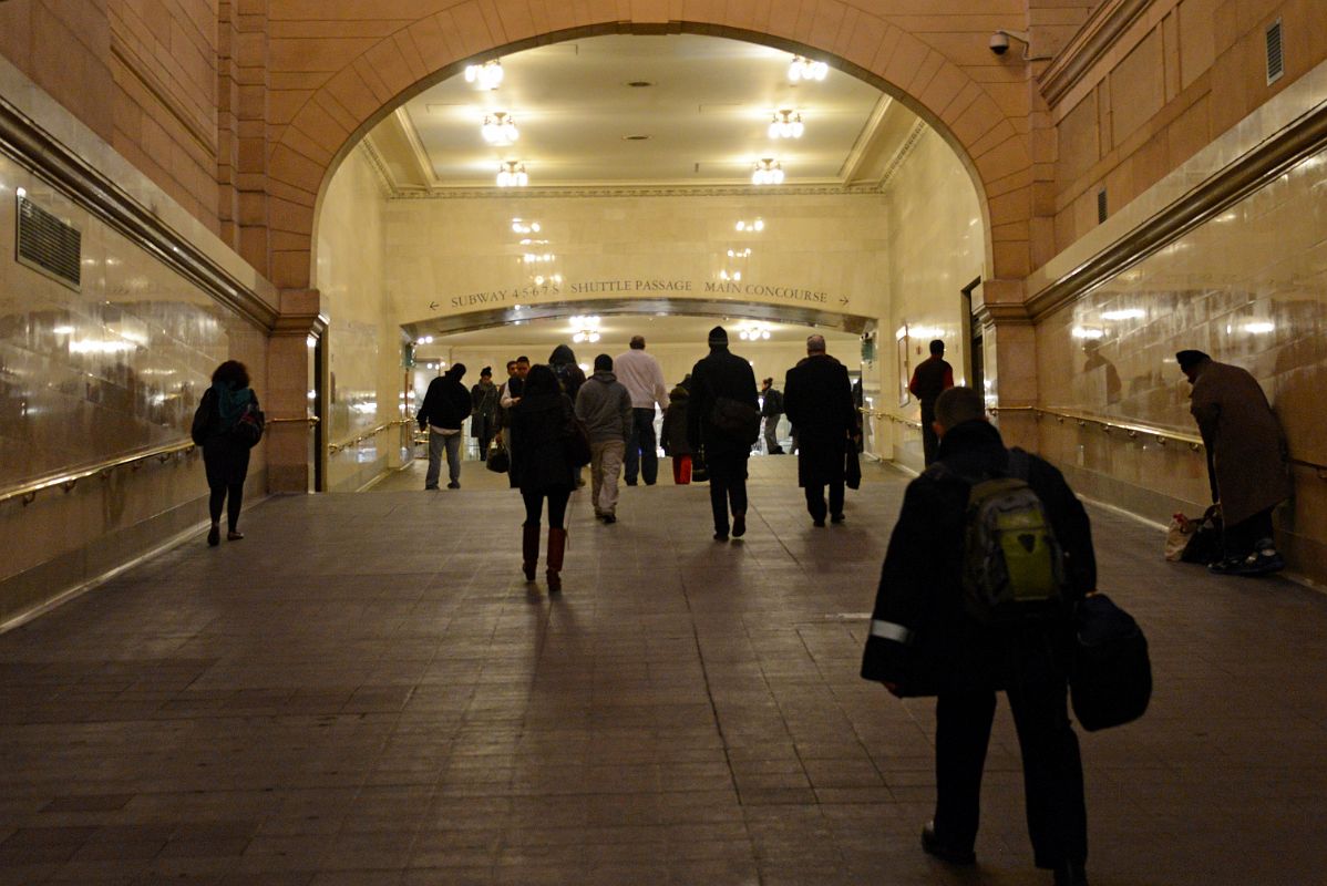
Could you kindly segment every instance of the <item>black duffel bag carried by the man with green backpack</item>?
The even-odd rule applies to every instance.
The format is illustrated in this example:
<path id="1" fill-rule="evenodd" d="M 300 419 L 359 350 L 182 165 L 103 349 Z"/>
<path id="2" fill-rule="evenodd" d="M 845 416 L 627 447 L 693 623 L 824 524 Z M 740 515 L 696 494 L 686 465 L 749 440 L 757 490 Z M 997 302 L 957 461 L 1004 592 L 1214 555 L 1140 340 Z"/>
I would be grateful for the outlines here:
<path id="1" fill-rule="evenodd" d="M 1070 696 L 1088 732 L 1139 719 L 1152 699 L 1148 639 L 1105 594 L 1092 594 L 1078 606 Z"/>

